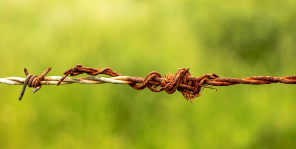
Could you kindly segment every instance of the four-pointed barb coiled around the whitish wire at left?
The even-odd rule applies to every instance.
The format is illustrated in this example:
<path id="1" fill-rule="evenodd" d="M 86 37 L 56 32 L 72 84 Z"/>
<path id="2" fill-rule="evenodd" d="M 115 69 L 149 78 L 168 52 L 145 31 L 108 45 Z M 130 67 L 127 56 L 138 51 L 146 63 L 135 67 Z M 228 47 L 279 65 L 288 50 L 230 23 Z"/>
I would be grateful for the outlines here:
<path id="1" fill-rule="evenodd" d="M 29 87 L 34 87 L 35 89 L 33 89 L 33 93 L 35 93 L 36 91 L 38 91 L 39 89 L 41 89 L 41 85 L 40 82 L 43 79 L 43 77 L 51 70 L 52 68 L 49 67 L 47 68 L 39 77 L 37 75 L 32 75 L 28 73 L 27 68 L 24 68 L 25 74 L 26 74 L 26 79 L 24 82 L 24 85 L 22 87 L 22 91 L 20 92 L 20 96 L 19 96 L 19 101 L 22 100 L 22 97 L 24 96 L 25 93 L 25 89 L 27 87 L 27 85 Z"/>

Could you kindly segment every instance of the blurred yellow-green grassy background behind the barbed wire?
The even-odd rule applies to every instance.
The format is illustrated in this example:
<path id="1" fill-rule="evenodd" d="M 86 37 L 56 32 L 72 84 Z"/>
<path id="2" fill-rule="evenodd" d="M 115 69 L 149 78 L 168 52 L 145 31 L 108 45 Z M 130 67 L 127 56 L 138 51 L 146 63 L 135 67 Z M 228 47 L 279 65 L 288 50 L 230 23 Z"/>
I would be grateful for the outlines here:
<path id="1" fill-rule="evenodd" d="M 296 1 L 0 1 L 0 78 L 80 63 L 126 76 L 296 75 Z M 83 75 L 82 75 L 83 76 Z M 86 75 L 84 75 L 86 76 Z M 104 76 L 104 75 L 102 75 Z M 296 86 L 181 93 L 0 84 L 0 148 L 296 148 Z"/>

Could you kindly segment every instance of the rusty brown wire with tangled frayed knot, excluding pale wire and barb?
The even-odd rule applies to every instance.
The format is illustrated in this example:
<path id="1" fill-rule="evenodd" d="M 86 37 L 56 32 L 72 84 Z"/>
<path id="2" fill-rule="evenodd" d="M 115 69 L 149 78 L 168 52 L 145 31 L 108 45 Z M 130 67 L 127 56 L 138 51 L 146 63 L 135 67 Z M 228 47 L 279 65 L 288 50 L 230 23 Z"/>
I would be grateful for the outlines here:
<path id="1" fill-rule="evenodd" d="M 83 67 L 78 64 L 74 68 L 70 68 L 65 71 L 64 76 L 58 81 L 57 85 L 68 76 L 76 76 L 81 73 L 87 73 L 91 76 L 98 74 L 105 74 L 112 77 L 123 76 L 112 69 L 106 68 L 90 68 Z M 142 90 L 149 88 L 153 92 L 165 91 L 168 94 L 174 93 L 176 90 L 181 91 L 182 95 L 187 100 L 192 100 L 200 96 L 200 92 L 204 88 L 212 88 L 211 86 L 229 86 L 234 84 L 269 84 L 269 83 L 285 83 L 296 84 L 296 76 L 284 76 L 284 77 L 271 77 L 271 76 L 251 76 L 246 78 L 219 78 L 214 73 L 205 74 L 198 78 L 192 77 L 189 73 L 189 68 L 180 68 L 175 75 L 168 74 L 162 77 L 158 72 L 152 71 L 145 78 L 141 77 L 125 77 L 125 81 L 134 82 L 129 84 L 136 90 Z M 141 83 L 141 84 L 137 84 Z"/>

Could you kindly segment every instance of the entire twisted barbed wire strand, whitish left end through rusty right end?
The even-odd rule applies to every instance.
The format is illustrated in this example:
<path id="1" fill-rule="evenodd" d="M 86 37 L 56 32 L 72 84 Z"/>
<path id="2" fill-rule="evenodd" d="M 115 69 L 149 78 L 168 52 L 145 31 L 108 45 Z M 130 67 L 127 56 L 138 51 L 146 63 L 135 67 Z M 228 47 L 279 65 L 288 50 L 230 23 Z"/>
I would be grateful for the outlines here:
<path id="1" fill-rule="evenodd" d="M 215 89 L 212 86 L 229 86 L 234 84 L 270 84 L 270 83 L 285 83 L 296 84 L 296 76 L 284 76 L 284 77 L 271 77 L 271 76 L 251 76 L 246 78 L 219 78 L 214 73 L 205 74 L 200 77 L 193 77 L 189 72 L 189 68 L 180 68 L 176 74 L 168 73 L 162 77 L 160 73 L 152 71 L 148 73 L 145 78 L 123 76 L 112 69 L 106 68 L 90 68 L 83 67 L 78 64 L 73 68 L 64 72 L 64 76 L 51 76 L 44 77 L 51 68 L 49 67 L 39 77 L 31 75 L 25 68 L 26 78 L 8 77 L 0 78 L 0 83 L 11 85 L 22 85 L 23 88 L 19 97 L 25 92 L 26 86 L 34 87 L 33 93 L 41 88 L 41 85 L 54 85 L 57 84 L 70 84 L 70 83 L 82 83 L 82 84 L 101 84 L 101 83 L 115 83 L 115 84 L 128 84 L 133 89 L 142 90 L 145 88 L 150 89 L 153 92 L 165 91 L 168 94 L 172 94 L 175 91 L 180 91 L 185 99 L 192 102 L 196 97 L 200 96 L 200 92 L 205 88 Z M 70 76 L 77 76 L 82 73 L 87 73 L 87 77 L 81 78 L 69 78 Z M 96 75 L 105 74 L 112 76 L 111 78 L 97 77 Z M 217 89 L 215 89 L 217 90 Z"/>

